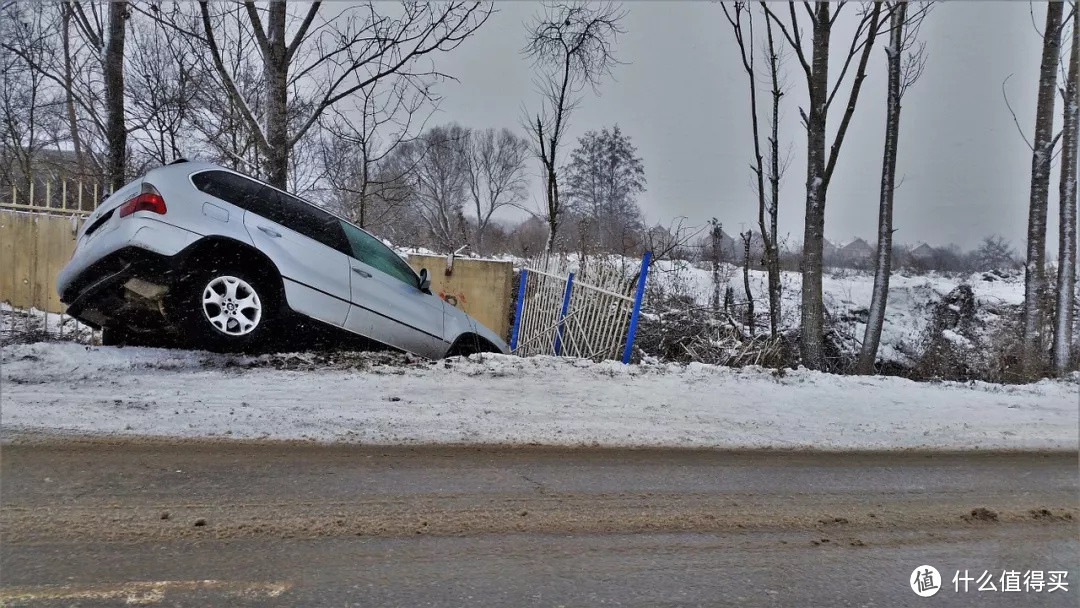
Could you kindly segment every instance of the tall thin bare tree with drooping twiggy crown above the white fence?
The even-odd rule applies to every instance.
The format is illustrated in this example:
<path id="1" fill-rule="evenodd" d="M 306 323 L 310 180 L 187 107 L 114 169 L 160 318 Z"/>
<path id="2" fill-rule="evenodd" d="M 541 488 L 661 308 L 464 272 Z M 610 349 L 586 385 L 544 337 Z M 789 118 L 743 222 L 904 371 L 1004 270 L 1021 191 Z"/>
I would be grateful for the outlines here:
<path id="1" fill-rule="evenodd" d="M 624 16 L 618 4 L 551 2 L 528 28 L 524 53 L 540 70 L 536 84 L 543 100 L 525 122 L 543 167 L 549 249 L 555 246 L 561 219 L 557 166 L 569 117 L 582 89 L 588 84 L 595 90 L 617 63 L 612 45 L 623 33 L 619 22 Z"/>

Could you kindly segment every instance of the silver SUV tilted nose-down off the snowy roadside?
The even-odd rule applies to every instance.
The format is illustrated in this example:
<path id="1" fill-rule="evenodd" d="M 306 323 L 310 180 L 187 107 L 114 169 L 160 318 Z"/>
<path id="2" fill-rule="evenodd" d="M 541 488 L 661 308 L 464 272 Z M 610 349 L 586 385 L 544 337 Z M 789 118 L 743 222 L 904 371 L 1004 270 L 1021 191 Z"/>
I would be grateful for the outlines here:
<path id="1" fill-rule="evenodd" d="M 239 351 L 330 326 L 437 359 L 507 352 L 345 219 L 227 168 L 177 161 L 106 199 L 57 281 L 106 343 Z M 315 323 L 312 323 L 312 320 Z M 299 323 L 297 323 L 299 322 Z"/>

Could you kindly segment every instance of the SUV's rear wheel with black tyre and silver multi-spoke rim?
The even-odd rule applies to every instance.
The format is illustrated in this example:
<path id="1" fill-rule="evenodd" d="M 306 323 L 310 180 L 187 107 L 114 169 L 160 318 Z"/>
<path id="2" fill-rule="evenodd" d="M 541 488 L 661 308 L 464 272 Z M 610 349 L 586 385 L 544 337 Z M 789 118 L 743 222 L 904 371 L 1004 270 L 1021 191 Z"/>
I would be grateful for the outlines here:
<path id="1" fill-rule="evenodd" d="M 251 352 L 270 346 L 280 288 L 265 273 L 217 267 L 188 273 L 175 302 L 190 348 Z"/>

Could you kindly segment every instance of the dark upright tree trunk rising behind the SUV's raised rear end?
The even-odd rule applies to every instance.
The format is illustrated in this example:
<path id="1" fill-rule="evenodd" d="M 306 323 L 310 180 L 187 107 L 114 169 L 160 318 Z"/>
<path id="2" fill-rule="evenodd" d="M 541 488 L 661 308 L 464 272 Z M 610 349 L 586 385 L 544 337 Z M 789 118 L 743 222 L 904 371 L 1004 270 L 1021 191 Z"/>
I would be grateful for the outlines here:
<path id="1" fill-rule="evenodd" d="M 127 127 L 124 124 L 125 2 L 109 4 L 109 32 L 105 46 L 105 139 L 109 148 L 106 181 L 116 192 L 124 185 L 127 164 Z"/>

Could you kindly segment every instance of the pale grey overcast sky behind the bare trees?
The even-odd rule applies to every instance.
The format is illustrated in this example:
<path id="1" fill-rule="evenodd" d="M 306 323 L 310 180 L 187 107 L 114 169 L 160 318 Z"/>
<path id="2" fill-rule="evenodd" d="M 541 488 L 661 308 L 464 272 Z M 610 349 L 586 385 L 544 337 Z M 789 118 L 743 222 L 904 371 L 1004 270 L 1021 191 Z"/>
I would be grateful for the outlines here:
<path id="1" fill-rule="evenodd" d="M 525 23 L 540 6 L 501 1 L 496 8 L 498 13 L 473 39 L 438 59 L 438 67 L 459 82 L 442 85 L 444 100 L 434 123 L 522 132 L 523 108 L 537 107 L 532 69 L 519 51 Z M 633 1 L 624 8 L 626 33 L 617 45 L 623 65 L 598 95 L 585 91 L 571 119 L 571 144 L 586 130 L 618 123 L 645 161 L 648 190 L 640 204 L 650 222 L 686 216 L 690 224 L 703 224 L 716 216 L 729 233 L 755 222 L 747 82 L 720 6 Z M 1045 9 L 1036 5 L 1035 11 L 1041 27 Z M 1029 5 L 939 3 L 922 27 L 922 39 L 929 60 L 903 104 L 895 239 L 970 247 L 983 235 L 1001 233 L 1022 249 L 1030 151 L 1004 105 L 1001 84 L 1013 75 L 1010 99 L 1030 133 L 1040 40 Z M 883 43 L 879 40 L 872 55 L 829 188 L 825 234 L 833 241 L 855 235 L 873 241 L 876 234 L 885 136 Z M 842 36 L 834 35 L 834 59 L 842 45 Z M 800 242 L 806 137 L 797 108 L 805 104 L 806 82 L 794 57 L 787 72 L 781 139 L 792 156 L 780 225 L 782 233 Z M 839 118 L 829 122 L 835 127 Z M 1048 233 L 1052 251 L 1057 241 L 1056 174 L 1055 166 Z M 539 208 L 541 197 L 537 177 L 532 206 Z"/>

